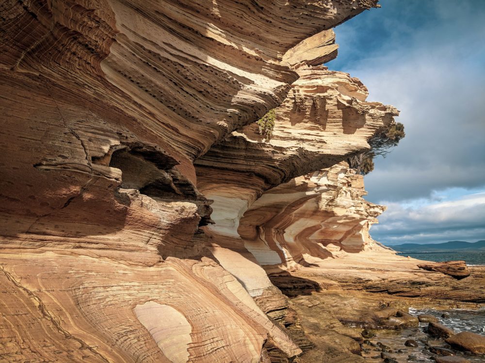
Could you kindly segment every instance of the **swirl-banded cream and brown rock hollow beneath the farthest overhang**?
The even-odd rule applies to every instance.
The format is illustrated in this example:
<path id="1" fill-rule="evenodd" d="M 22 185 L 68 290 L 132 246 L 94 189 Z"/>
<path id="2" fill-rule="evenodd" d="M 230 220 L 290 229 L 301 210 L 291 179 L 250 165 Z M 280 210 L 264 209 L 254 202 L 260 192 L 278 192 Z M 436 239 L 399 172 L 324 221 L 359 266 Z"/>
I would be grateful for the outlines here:
<path id="1" fill-rule="evenodd" d="M 339 163 L 265 192 L 244 213 L 239 233 L 263 266 L 363 251 L 375 243 L 369 228 L 384 211 L 365 194 L 362 176 Z"/>

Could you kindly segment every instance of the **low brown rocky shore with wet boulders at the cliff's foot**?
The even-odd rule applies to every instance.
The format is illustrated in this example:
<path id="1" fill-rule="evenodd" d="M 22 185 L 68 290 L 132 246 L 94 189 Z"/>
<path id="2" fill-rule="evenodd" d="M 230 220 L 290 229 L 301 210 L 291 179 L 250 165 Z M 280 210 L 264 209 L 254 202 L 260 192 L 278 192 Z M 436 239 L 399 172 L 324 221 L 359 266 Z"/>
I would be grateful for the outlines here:
<path id="1" fill-rule="evenodd" d="M 345 258 L 339 262 L 345 264 Z M 312 342 L 316 342 L 316 348 L 304 352 L 302 362 L 485 362 L 485 336 L 479 328 L 475 327 L 475 333 L 458 333 L 464 330 L 459 327 L 454 331 L 447 326 L 455 321 L 449 314 L 456 312 L 453 314 L 455 319 L 460 311 L 483 311 L 485 321 L 485 304 L 436 299 L 431 291 L 428 296 L 432 297 L 415 298 L 368 292 L 358 282 L 349 284 L 348 279 L 342 288 L 338 281 L 328 278 L 332 269 L 324 265 L 314 267 L 319 272 L 311 268 L 292 272 L 307 278 L 311 272 L 319 286 L 309 291 L 308 283 L 303 284 L 299 296 L 296 296 L 297 284 L 293 284 L 291 289 L 291 307 L 302 317 L 302 329 Z M 329 265 L 332 263 L 329 262 Z M 381 272 L 387 270 L 384 266 L 381 269 Z M 353 272 L 350 269 L 347 271 L 349 274 Z M 354 272 L 360 273 L 362 279 L 372 276 L 372 271 L 365 269 Z M 384 281 L 396 274 L 395 271 L 386 272 Z M 470 276 L 481 276 L 484 272 L 485 267 L 470 267 Z M 419 269 L 416 273 L 419 273 Z M 440 272 L 435 274 L 428 278 L 453 282 L 451 276 L 444 277 Z M 409 284 L 415 282 L 410 280 Z M 469 277 L 462 290 L 483 286 L 481 282 L 478 285 L 474 283 L 477 281 Z M 467 296 L 468 293 L 464 293 L 464 300 Z M 476 339 L 474 344 L 471 337 Z M 319 354 L 327 358 L 319 361 Z"/>

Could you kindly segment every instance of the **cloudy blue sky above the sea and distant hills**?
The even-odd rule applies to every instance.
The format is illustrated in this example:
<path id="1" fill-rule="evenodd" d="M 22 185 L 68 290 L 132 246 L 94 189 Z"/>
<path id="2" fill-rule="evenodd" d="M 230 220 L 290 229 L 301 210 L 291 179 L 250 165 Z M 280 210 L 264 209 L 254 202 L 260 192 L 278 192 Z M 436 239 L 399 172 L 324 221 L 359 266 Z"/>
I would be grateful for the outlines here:
<path id="1" fill-rule="evenodd" d="M 485 240 L 485 0 L 381 0 L 325 65 L 396 106 L 406 137 L 365 177 L 387 245 Z"/>

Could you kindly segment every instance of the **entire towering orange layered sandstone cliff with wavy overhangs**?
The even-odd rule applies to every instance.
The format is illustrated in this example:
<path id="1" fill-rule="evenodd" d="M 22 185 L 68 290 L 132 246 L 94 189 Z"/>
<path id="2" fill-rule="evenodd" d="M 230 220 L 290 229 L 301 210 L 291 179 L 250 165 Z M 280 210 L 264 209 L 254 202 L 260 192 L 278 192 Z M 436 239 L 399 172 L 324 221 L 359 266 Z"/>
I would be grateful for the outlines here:
<path id="1" fill-rule="evenodd" d="M 3 2 L 0 360 L 310 349 L 261 266 L 373 243 L 382 209 L 335 164 L 397 111 L 315 65 L 376 2 Z"/>

